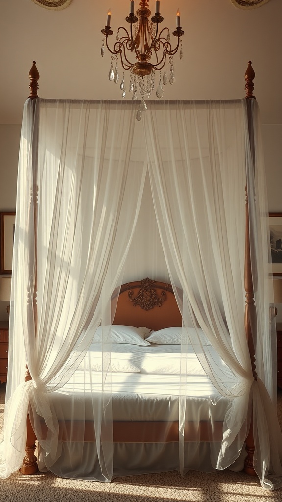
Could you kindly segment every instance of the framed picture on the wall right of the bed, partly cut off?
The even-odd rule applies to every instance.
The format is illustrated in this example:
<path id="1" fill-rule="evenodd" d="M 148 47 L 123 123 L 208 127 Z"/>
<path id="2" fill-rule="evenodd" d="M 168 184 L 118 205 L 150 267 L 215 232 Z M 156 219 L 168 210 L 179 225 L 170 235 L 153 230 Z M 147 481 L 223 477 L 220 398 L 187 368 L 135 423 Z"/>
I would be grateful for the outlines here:
<path id="1" fill-rule="evenodd" d="M 282 276 L 282 213 L 269 213 L 272 275 Z"/>

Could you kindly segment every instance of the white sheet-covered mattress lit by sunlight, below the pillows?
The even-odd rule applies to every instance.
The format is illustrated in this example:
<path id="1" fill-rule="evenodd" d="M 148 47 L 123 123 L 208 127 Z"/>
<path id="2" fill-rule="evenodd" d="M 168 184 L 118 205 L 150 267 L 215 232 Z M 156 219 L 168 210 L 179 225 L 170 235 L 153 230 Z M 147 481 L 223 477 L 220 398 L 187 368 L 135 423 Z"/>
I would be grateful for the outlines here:
<path id="1" fill-rule="evenodd" d="M 207 349 L 222 370 L 222 379 L 231 387 L 236 380 L 219 359 L 214 349 Z M 112 371 L 107 374 L 105 393 L 112 395 L 114 420 L 178 420 L 180 395 L 180 345 L 136 346 L 112 344 L 112 366 L 129 361 L 134 372 Z M 59 391 L 50 394 L 59 419 L 93 419 L 95 401 L 101 396 L 101 371 L 91 370 L 101 364 L 100 344 L 93 343 L 79 369 Z M 136 370 L 137 368 L 137 370 Z M 189 347 L 186 420 L 220 420 L 229 399 L 211 384 L 192 346 Z M 217 404 L 217 406 L 215 406 Z M 83 411 L 83 415 L 81 414 Z"/>

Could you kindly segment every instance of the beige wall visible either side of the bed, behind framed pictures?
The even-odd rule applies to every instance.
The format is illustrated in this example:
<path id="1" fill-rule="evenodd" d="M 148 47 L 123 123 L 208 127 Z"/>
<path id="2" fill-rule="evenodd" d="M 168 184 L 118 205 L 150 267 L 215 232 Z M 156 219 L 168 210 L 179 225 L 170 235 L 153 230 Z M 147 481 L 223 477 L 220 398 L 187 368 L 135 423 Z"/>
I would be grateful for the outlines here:
<path id="1" fill-rule="evenodd" d="M 16 207 L 20 124 L 0 124 L 0 211 Z M 282 212 L 282 124 L 262 124 L 269 211 Z M 0 319 L 8 319 L 6 302 L 0 302 Z M 277 320 L 282 321 L 282 308 Z"/>

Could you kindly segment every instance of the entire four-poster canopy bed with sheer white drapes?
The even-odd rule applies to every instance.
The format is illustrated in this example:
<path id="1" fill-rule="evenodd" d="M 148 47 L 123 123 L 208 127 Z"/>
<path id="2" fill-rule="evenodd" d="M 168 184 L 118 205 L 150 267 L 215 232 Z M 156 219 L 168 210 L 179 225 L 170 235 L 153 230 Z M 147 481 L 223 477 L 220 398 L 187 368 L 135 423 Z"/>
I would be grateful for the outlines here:
<path id="1" fill-rule="evenodd" d="M 2 477 L 26 453 L 28 474 L 244 467 L 281 485 L 253 77 L 246 99 L 150 101 L 137 122 L 134 101 L 39 98 L 34 63 Z"/>

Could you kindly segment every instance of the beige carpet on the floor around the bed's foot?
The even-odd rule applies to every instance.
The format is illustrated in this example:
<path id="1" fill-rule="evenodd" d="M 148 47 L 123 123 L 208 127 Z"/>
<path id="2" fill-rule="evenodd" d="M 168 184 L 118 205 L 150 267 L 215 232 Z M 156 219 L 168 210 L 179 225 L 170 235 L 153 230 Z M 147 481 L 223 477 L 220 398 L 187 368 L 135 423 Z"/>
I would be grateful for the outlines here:
<path id="1" fill-rule="evenodd" d="M 0 430 L 4 416 L 5 385 L 0 385 Z M 277 414 L 282 429 L 282 391 Z M 256 478 L 243 472 L 211 474 L 190 471 L 184 478 L 176 471 L 144 474 L 97 483 L 61 479 L 51 472 L 23 476 L 16 472 L 0 481 L 5 502 L 282 502 L 282 488 L 265 491 Z"/>

